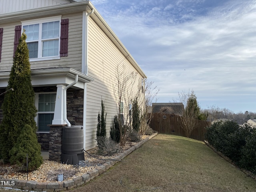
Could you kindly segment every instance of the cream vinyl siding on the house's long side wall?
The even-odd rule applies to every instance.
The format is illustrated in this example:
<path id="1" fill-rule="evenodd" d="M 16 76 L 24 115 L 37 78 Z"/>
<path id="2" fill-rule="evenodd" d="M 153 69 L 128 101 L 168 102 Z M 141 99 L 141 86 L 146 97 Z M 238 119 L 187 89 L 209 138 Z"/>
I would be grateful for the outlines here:
<path id="1" fill-rule="evenodd" d="M 88 75 L 94 82 L 87 84 L 86 150 L 96 146 L 96 127 L 98 112 L 101 112 L 101 100 L 107 113 L 107 136 L 114 116 L 118 114 L 114 86 L 117 84 L 117 66 L 124 65 L 127 73 L 136 72 L 114 43 L 89 17 L 88 27 Z M 138 91 L 141 76 L 134 80 L 134 93 Z"/>

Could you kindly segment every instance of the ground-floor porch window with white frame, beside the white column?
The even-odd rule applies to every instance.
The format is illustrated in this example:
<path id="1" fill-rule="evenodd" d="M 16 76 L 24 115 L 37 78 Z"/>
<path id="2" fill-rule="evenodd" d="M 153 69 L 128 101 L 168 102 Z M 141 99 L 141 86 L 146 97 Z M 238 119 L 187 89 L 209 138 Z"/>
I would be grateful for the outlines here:
<path id="1" fill-rule="evenodd" d="M 54 116 L 56 93 L 36 94 L 36 106 L 38 109 L 36 123 L 38 132 L 49 132 Z"/>

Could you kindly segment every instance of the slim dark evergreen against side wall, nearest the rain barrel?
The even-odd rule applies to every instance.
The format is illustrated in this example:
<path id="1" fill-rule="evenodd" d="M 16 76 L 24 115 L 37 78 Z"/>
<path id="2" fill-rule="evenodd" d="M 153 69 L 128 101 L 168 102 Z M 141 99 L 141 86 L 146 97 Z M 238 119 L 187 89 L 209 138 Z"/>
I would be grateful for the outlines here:
<path id="1" fill-rule="evenodd" d="M 107 114 L 104 116 L 105 106 L 104 102 L 101 100 L 101 114 L 98 114 L 98 124 L 97 124 L 97 132 L 96 136 L 98 137 L 106 137 L 106 117 Z"/>

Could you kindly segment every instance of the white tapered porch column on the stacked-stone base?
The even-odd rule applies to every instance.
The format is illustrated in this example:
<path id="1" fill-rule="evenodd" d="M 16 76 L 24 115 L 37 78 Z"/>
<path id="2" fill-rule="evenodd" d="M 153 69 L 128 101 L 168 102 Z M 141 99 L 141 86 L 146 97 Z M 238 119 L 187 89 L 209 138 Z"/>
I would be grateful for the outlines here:
<path id="1" fill-rule="evenodd" d="M 57 94 L 56 94 L 56 102 L 54 109 L 54 117 L 52 120 L 53 125 L 65 125 L 66 122 L 64 120 L 64 88 L 66 85 L 57 84 Z"/>

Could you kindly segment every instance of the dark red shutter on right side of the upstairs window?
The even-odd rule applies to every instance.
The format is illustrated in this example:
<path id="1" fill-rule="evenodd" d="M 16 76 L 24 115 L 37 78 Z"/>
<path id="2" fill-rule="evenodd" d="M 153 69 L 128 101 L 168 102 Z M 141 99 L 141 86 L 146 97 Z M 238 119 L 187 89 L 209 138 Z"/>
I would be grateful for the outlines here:
<path id="1" fill-rule="evenodd" d="M 68 19 L 62 19 L 60 23 L 60 56 L 68 56 Z"/>

